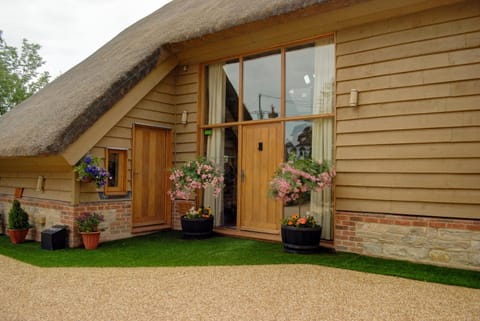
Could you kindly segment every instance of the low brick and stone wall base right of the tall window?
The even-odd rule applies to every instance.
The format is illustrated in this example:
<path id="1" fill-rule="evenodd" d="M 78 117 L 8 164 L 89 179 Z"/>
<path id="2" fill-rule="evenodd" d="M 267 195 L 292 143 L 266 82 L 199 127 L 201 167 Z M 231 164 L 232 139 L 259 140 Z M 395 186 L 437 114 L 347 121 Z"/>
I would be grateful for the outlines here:
<path id="1" fill-rule="evenodd" d="M 335 249 L 480 270 L 480 220 L 337 212 Z"/>

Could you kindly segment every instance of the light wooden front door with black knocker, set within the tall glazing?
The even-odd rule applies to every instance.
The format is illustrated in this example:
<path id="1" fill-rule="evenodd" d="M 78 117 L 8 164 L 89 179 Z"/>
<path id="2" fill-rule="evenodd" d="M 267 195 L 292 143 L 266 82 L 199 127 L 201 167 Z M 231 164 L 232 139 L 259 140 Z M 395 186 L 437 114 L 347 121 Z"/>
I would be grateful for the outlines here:
<path id="1" fill-rule="evenodd" d="M 242 131 L 242 230 L 279 233 L 281 202 L 269 197 L 269 182 L 282 161 L 280 123 L 245 126 Z"/>

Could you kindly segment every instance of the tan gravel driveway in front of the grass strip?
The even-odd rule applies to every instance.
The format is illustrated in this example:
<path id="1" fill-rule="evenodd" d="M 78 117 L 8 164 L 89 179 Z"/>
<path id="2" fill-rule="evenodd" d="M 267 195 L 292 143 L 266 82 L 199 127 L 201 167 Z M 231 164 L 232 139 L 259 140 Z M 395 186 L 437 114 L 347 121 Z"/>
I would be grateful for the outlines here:
<path id="1" fill-rule="evenodd" d="M 480 290 L 311 265 L 0 268 L 2 321 L 480 320 Z"/>

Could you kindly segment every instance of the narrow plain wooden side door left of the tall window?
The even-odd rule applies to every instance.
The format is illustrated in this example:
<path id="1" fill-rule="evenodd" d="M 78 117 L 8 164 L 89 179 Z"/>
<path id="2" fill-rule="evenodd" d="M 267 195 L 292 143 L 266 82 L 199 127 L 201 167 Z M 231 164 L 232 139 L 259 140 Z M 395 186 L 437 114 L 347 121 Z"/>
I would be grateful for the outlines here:
<path id="1" fill-rule="evenodd" d="M 133 232 L 170 227 L 172 130 L 135 125 L 133 144 Z"/>

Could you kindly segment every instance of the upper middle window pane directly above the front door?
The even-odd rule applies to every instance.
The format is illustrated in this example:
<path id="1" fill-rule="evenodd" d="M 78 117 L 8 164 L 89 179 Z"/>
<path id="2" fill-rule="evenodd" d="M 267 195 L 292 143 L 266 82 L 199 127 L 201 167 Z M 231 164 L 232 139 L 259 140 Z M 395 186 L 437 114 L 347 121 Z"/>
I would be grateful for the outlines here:
<path id="1" fill-rule="evenodd" d="M 243 120 L 278 117 L 281 106 L 280 53 L 248 57 L 243 68 Z"/>

